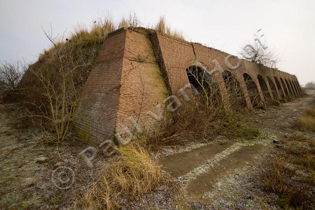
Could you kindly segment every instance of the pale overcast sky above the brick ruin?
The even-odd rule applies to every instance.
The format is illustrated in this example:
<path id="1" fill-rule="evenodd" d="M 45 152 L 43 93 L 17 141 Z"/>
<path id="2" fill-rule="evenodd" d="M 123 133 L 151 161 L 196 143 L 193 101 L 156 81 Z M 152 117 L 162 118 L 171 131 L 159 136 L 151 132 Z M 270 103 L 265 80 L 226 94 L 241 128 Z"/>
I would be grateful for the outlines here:
<path id="1" fill-rule="evenodd" d="M 41 26 L 63 34 L 108 14 L 118 22 L 130 11 L 143 26 L 164 15 L 187 40 L 238 56 L 261 28 L 279 53 L 279 70 L 300 84 L 315 80 L 315 0 L 0 0 L 0 61 L 36 60 L 51 46 Z"/>

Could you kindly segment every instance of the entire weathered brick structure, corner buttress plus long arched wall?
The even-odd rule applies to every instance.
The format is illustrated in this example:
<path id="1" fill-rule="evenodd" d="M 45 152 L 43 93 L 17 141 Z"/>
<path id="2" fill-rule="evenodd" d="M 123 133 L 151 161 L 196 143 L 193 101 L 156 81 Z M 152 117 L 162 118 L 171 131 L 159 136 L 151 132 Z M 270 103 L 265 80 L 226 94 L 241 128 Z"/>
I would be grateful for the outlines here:
<path id="1" fill-rule="evenodd" d="M 143 28 L 119 29 L 105 39 L 83 86 L 73 117 L 75 132 L 80 139 L 98 145 L 116 132 L 124 136 L 124 128 L 135 131 L 129 117 L 144 131 L 153 132 L 158 123 L 147 112 L 158 115 L 158 104 L 164 106 L 168 95 L 179 95 L 178 90 L 189 83 L 190 66 L 212 74 L 222 97 L 228 97 L 228 93 L 221 73 L 232 74 L 241 85 L 248 107 L 252 107 L 249 88 L 253 86 L 245 82 L 244 76 L 251 78 L 261 102 L 267 97 L 281 99 L 301 93 L 295 76 L 248 60 L 241 60 L 236 70 L 230 69 L 227 58 L 236 66 L 234 56 L 199 43 Z"/>

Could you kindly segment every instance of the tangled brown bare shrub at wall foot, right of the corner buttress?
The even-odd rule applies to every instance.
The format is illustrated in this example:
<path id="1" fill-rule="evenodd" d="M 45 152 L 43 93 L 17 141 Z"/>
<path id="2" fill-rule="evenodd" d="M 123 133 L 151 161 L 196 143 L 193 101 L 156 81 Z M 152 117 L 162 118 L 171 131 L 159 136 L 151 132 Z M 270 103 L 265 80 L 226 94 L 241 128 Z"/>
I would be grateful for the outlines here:
<path id="1" fill-rule="evenodd" d="M 220 123 L 216 121 L 220 111 L 217 107 L 207 108 L 201 100 L 194 99 L 173 115 L 168 115 L 160 130 L 146 137 L 146 147 L 158 149 L 209 140 L 219 129 L 215 127 Z"/>

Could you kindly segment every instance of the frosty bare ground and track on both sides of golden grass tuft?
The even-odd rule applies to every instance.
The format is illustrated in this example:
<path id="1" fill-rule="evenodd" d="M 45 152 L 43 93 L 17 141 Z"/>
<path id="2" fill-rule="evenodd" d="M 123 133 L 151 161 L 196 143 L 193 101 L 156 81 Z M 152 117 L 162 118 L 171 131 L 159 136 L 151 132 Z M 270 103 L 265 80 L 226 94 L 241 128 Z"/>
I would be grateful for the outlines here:
<path id="1" fill-rule="evenodd" d="M 277 195 L 264 193 L 256 184 L 258 165 L 275 149 L 274 140 L 299 132 L 294 129 L 296 116 L 315 105 L 315 91 L 309 94 L 244 116 L 244 122 L 259 129 L 257 138 L 219 136 L 209 143 L 165 149 L 160 164 L 177 187 L 162 186 L 126 204 L 126 209 L 279 209 Z M 89 145 L 76 139 L 58 146 L 45 144 L 41 133 L 15 129 L 11 124 L 15 111 L 14 105 L 0 105 L 0 209 L 72 209 L 77 189 L 96 179 L 105 160 L 98 156 L 89 169 L 78 157 Z M 47 162 L 36 162 L 38 157 L 47 157 Z M 73 170 L 68 189 L 52 182 L 58 162 Z"/>

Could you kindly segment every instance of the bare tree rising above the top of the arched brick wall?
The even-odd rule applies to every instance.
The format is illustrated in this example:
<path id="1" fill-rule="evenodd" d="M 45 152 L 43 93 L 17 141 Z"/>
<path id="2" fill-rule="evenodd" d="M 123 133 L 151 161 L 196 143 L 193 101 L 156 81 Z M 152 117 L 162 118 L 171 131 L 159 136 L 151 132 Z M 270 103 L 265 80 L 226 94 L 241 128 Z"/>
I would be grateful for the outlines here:
<path id="1" fill-rule="evenodd" d="M 270 68 L 276 68 L 276 64 L 279 61 L 278 55 L 274 50 L 263 48 L 258 42 L 245 45 L 240 54 L 247 60 Z"/>

